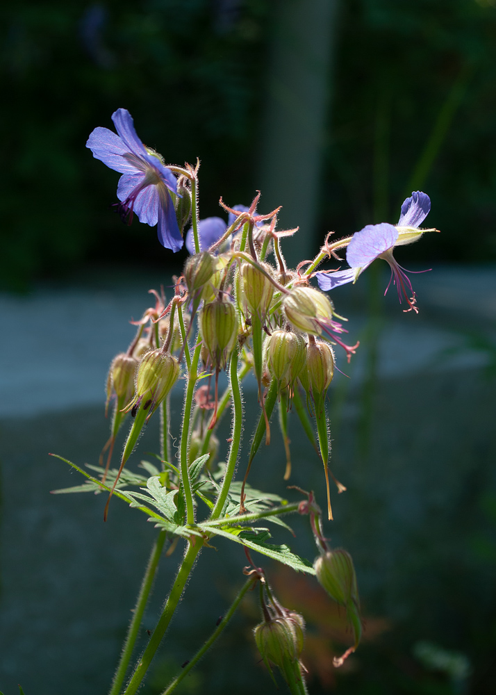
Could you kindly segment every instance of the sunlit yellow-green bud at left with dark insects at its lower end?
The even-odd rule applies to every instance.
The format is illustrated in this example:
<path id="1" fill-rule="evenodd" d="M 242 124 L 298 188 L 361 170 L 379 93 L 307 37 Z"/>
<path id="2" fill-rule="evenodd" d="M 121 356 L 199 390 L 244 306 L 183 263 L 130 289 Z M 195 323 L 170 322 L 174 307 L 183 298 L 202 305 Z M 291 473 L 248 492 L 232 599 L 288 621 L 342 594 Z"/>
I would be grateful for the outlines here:
<path id="1" fill-rule="evenodd" d="M 151 350 L 142 357 L 138 367 L 135 397 L 126 410 L 138 407 L 148 410 L 151 417 L 179 377 L 179 362 L 172 354 L 160 348 Z"/>

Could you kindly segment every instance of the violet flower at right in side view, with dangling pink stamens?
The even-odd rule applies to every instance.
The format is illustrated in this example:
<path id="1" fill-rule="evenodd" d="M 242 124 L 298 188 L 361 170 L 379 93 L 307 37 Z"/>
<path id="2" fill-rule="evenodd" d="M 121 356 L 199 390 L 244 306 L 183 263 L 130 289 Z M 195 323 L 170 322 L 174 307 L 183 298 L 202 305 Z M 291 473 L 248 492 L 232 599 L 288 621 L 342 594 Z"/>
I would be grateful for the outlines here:
<path id="1" fill-rule="evenodd" d="M 410 244 L 420 239 L 424 231 L 436 231 L 434 229 L 419 229 L 431 209 L 431 200 L 426 193 L 417 190 L 411 197 L 406 198 L 402 205 L 397 226 L 382 222 L 381 224 L 367 224 L 361 231 L 357 231 L 349 242 L 346 250 L 346 260 L 349 265 L 347 270 L 337 272 L 316 272 L 315 277 L 321 290 L 327 291 L 334 287 L 354 282 L 372 261 L 381 258 L 388 261 L 391 268 L 391 279 L 386 288 L 389 289 L 391 280 L 397 286 L 399 302 L 406 299 L 409 309 L 406 311 L 418 311 L 415 306 L 415 292 L 404 268 L 395 261 L 392 250 L 395 246 Z M 410 297 L 408 295 L 411 295 Z"/>

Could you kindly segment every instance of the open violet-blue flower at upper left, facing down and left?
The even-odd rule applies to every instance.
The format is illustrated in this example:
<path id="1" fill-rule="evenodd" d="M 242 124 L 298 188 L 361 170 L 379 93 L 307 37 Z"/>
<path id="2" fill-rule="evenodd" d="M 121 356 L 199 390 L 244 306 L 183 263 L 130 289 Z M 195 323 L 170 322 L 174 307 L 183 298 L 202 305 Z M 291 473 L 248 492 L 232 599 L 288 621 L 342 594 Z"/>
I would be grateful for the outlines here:
<path id="1" fill-rule="evenodd" d="M 112 114 L 117 135 L 108 128 L 95 128 L 88 138 L 94 158 L 123 174 L 117 186 L 123 218 L 133 213 L 140 222 L 158 224 L 158 240 L 166 249 L 179 251 L 183 238 L 176 220 L 171 192 L 176 195 L 176 177 L 154 150 L 145 147 L 136 135 L 133 119 L 125 108 Z"/>

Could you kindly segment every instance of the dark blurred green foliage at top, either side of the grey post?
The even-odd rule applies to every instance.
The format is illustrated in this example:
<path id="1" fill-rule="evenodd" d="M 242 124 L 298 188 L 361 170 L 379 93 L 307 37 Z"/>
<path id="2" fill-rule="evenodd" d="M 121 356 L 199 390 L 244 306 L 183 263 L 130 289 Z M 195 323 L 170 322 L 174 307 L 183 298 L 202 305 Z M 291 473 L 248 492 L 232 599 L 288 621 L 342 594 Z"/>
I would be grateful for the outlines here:
<path id="1" fill-rule="evenodd" d="M 429 258 L 494 259 L 496 3 L 340 5 L 320 236 L 395 222 L 422 187 L 445 231 Z M 204 162 L 202 215 L 221 194 L 251 198 L 277 3 L 19 0 L 1 17 L 1 286 L 88 261 L 163 262 L 154 233 L 110 213 L 117 174 L 84 147 L 121 106 L 167 161 Z"/>

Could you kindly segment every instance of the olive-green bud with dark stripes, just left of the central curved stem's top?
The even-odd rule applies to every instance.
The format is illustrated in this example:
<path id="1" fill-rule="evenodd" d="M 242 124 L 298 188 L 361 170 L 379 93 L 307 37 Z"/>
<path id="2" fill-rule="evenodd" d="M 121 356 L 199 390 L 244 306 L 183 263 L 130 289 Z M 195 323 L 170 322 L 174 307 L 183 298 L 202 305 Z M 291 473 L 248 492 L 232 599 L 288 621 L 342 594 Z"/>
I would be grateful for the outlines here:
<path id="1" fill-rule="evenodd" d="M 238 337 L 238 318 L 234 304 L 215 300 L 201 310 L 200 331 L 210 363 L 225 369 Z"/>

